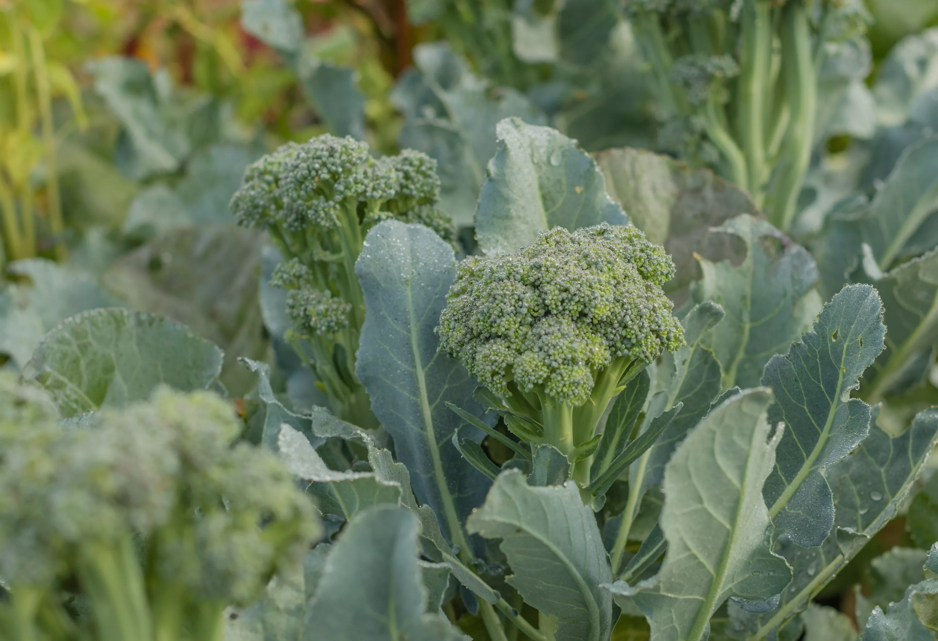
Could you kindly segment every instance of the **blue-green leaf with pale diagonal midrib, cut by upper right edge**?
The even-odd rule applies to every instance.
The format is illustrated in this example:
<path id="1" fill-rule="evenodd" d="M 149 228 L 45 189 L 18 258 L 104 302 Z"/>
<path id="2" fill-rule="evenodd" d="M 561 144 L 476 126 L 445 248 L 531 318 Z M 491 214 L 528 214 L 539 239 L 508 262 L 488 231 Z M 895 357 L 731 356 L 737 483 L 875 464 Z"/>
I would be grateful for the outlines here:
<path id="1" fill-rule="evenodd" d="M 863 241 L 872 249 L 880 270 L 909 258 L 906 246 L 938 245 L 938 232 L 923 223 L 938 208 L 938 137 L 907 148 L 858 220 Z M 922 231 L 928 235 L 923 238 Z M 916 234 L 917 237 L 916 237 Z"/>

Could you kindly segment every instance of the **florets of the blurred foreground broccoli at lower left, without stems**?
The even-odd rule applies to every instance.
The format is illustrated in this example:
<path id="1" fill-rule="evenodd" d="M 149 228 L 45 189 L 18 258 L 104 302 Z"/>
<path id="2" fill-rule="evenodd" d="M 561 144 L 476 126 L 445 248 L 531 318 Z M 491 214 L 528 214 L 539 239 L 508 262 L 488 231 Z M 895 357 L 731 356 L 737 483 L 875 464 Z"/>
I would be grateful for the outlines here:
<path id="1" fill-rule="evenodd" d="M 0 377 L 0 575 L 14 587 L 65 578 L 83 545 L 134 534 L 159 574 L 246 604 L 318 535 L 280 460 L 233 446 L 241 426 L 216 395 L 161 390 L 86 429 L 60 427 L 49 407 Z"/>

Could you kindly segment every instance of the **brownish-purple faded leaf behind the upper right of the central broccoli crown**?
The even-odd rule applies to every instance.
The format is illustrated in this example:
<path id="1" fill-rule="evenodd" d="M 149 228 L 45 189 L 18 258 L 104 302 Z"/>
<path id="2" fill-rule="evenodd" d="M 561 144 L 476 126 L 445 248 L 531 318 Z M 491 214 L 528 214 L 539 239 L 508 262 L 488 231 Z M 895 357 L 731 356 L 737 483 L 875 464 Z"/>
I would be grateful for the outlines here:
<path id="1" fill-rule="evenodd" d="M 758 215 L 746 191 L 712 171 L 643 149 L 608 149 L 593 157 L 613 201 L 649 241 L 671 255 L 677 275 L 664 289 L 678 305 L 687 299 L 690 282 L 700 278 L 694 252 L 737 258 L 725 234 L 711 229 L 739 214 Z"/>

